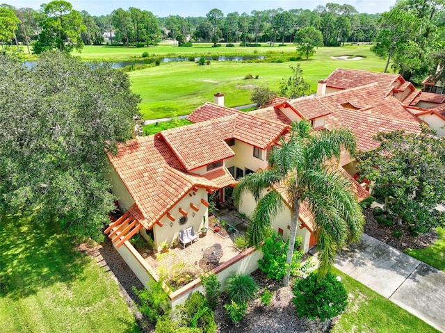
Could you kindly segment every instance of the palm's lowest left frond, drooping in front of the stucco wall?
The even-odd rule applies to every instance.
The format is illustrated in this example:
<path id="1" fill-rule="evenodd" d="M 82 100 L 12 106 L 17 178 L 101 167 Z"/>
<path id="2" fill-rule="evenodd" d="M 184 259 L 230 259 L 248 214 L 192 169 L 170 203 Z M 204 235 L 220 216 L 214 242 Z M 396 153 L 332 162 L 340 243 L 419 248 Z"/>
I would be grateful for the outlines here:
<path id="1" fill-rule="evenodd" d="M 255 207 L 252 213 L 252 222 L 250 222 L 248 230 L 248 238 L 252 245 L 255 247 L 261 245 L 261 241 L 264 241 L 268 234 L 270 221 L 283 209 L 284 202 L 280 193 L 276 190 L 270 190 L 259 200 L 257 207 Z"/>

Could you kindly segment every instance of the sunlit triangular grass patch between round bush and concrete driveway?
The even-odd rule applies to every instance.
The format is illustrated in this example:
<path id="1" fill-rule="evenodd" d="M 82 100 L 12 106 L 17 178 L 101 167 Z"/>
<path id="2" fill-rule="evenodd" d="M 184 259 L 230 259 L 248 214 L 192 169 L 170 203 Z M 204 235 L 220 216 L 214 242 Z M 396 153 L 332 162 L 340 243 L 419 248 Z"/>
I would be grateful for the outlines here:
<path id="1" fill-rule="evenodd" d="M 439 332 L 382 295 L 341 273 L 337 268 L 332 268 L 332 272 L 341 276 L 350 295 L 348 307 L 332 328 L 332 333 Z"/>

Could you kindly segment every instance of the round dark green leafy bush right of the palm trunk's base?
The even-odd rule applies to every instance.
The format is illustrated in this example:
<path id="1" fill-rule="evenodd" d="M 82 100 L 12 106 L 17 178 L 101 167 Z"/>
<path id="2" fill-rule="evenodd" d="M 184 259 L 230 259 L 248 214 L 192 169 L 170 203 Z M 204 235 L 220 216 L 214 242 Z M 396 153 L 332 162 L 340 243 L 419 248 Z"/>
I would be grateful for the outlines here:
<path id="1" fill-rule="evenodd" d="M 317 282 L 316 273 L 311 273 L 293 285 L 293 303 L 298 316 L 321 321 L 341 314 L 348 305 L 345 287 L 332 273 L 327 273 Z"/>

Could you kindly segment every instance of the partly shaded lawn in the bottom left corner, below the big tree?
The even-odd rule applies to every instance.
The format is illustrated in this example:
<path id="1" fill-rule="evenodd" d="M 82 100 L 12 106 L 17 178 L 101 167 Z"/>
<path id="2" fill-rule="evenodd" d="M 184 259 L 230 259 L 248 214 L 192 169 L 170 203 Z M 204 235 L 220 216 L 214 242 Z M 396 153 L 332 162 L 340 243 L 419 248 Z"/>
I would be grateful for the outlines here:
<path id="1" fill-rule="evenodd" d="M 105 268 L 56 229 L 1 216 L 1 332 L 140 332 Z"/>

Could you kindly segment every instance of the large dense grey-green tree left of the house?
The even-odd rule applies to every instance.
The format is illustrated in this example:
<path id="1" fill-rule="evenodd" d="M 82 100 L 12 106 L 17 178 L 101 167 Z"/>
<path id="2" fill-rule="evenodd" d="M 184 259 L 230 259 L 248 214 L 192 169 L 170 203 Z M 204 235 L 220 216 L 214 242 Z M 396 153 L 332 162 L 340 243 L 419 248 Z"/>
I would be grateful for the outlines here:
<path id="1" fill-rule="evenodd" d="M 126 74 L 44 52 L 29 69 L 0 56 L 0 204 L 102 238 L 114 209 L 106 153 L 131 138 L 140 97 Z"/>

